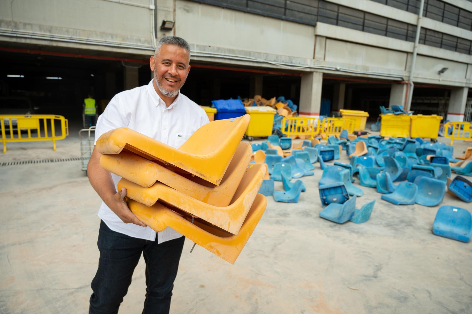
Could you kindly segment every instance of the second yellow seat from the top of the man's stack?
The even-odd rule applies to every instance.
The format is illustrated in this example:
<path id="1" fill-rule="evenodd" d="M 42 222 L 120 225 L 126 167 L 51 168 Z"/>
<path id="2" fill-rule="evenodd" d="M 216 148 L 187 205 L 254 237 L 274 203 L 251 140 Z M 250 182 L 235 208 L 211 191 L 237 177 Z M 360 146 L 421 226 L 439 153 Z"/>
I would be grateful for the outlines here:
<path id="1" fill-rule="evenodd" d="M 128 181 L 147 188 L 156 181 L 162 182 L 191 198 L 219 207 L 228 206 L 233 198 L 251 157 L 251 145 L 239 143 L 236 153 L 229 163 L 223 180 L 219 186 L 210 186 L 208 182 L 192 177 L 180 175 L 153 163 L 143 157 L 121 152 L 118 155 L 102 155 L 100 165 L 114 174 Z"/>

